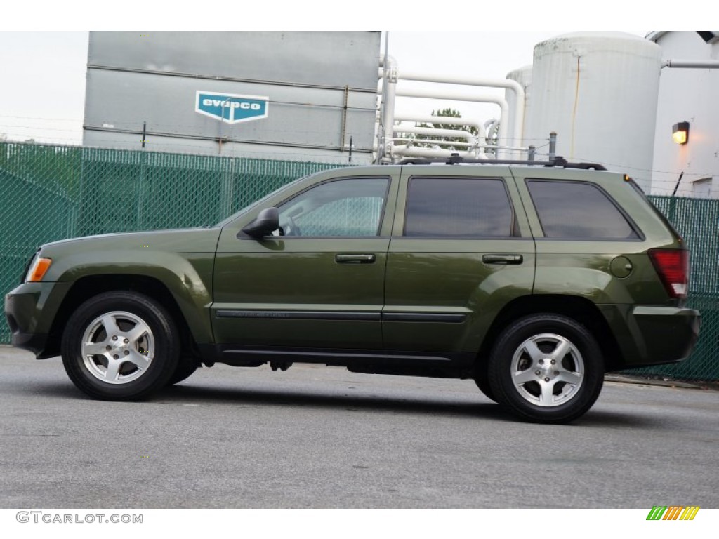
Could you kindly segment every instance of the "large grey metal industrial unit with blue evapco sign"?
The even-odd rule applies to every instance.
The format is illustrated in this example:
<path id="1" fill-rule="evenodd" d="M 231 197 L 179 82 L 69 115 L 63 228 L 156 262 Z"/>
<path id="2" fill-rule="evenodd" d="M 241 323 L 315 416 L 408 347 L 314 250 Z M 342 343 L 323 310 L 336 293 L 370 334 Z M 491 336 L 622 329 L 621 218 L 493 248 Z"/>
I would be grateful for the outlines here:
<path id="1" fill-rule="evenodd" d="M 90 32 L 83 145 L 372 161 L 380 32 Z"/>

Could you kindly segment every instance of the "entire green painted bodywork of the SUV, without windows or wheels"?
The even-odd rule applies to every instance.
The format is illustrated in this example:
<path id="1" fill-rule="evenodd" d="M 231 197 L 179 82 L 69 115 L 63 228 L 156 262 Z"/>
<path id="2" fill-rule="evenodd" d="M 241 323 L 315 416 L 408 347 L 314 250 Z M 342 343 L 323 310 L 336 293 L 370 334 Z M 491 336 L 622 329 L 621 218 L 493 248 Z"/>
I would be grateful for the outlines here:
<path id="1" fill-rule="evenodd" d="M 503 178 L 513 203 L 515 236 L 403 237 L 406 188 L 412 175 Z M 600 185 L 631 215 L 641 239 L 544 238 L 526 179 L 569 175 Z M 352 177 L 391 180 L 378 236 L 255 240 L 242 234 L 263 208 L 278 206 L 318 183 Z M 16 318 L 21 333 L 42 336 L 70 288 L 84 277 L 136 275 L 168 287 L 196 342 L 218 349 L 242 345 L 278 351 L 372 349 L 471 356 L 479 351 L 497 313 L 513 300 L 567 295 L 589 301 L 607 321 L 622 356 L 610 364 L 657 364 L 678 361 L 689 353 L 700 315 L 668 297 L 646 254 L 656 248 L 682 249 L 684 244 L 632 185 L 613 172 L 505 166 L 356 167 L 319 172 L 291 183 L 213 229 L 106 234 L 47 244 L 41 256 L 51 258 L 52 265 L 44 280 L 9 292 L 6 310 Z M 372 254 L 375 259 L 339 264 L 338 254 Z M 482 262 L 484 254 L 520 255 L 522 260 L 494 264 Z M 631 270 L 623 270 L 626 261 Z M 546 308 L 551 310 L 551 305 Z M 216 313 L 222 310 L 260 315 L 218 318 Z M 262 316 L 266 311 L 299 315 Z M 344 313 L 340 317 L 344 318 L 312 319 L 312 313 L 318 312 Z M 352 313 L 443 313 L 464 318 L 462 322 L 441 321 L 441 317 L 352 320 Z M 372 368 L 382 372 L 377 365 Z"/>

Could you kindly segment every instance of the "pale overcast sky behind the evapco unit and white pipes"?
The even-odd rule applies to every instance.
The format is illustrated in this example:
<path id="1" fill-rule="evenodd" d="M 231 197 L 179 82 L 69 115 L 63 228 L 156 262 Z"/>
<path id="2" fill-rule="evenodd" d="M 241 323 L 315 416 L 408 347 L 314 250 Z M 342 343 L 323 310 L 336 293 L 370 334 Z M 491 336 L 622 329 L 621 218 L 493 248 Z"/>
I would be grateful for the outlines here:
<path id="1" fill-rule="evenodd" d="M 630 31 L 646 34 L 645 31 Z M 505 78 L 531 64 L 533 47 L 562 31 L 389 32 L 389 53 L 402 70 L 446 76 Z M 80 144 L 88 32 L 0 32 L 0 136 Z M 383 53 L 383 49 L 380 51 Z M 403 88 L 422 86 L 403 82 Z M 467 92 L 467 88 L 460 87 Z M 490 90 L 483 90 L 491 93 Z M 501 91 L 498 91 L 501 92 Z M 498 116 L 495 105 L 446 103 L 478 121 Z M 430 114 L 438 103 L 398 98 L 398 112 Z"/>

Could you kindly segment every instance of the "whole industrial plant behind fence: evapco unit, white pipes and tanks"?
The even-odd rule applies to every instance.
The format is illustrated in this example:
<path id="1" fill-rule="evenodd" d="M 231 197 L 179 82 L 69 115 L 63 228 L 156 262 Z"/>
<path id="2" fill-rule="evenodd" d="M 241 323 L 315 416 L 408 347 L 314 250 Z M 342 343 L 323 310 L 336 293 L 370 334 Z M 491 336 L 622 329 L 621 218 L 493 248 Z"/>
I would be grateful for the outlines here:
<path id="1" fill-rule="evenodd" d="M 627 172 L 648 193 L 719 196 L 718 35 L 564 34 L 538 43 L 532 65 L 487 80 L 481 64 L 445 78 L 403 71 L 380 32 L 91 32 L 83 144 L 337 164 L 539 160 L 549 150 L 536 141 L 553 132 L 552 155 Z M 395 99 L 413 97 L 499 114 L 395 114 Z M 452 150 L 426 143 L 444 136 Z"/>

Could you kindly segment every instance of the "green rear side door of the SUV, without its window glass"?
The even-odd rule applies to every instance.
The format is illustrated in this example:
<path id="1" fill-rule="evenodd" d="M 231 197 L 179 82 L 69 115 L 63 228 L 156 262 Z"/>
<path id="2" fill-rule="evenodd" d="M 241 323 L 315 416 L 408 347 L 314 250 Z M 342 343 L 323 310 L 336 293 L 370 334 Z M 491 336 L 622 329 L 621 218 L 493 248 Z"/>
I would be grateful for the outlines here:
<path id="1" fill-rule="evenodd" d="M 407 187 L 413 175 L 433 178 L 502 178 L 510 200 L 518 193 L 508 167 L 403 167 L 397 218 L 388 257 L 385 312 L 467 313 L 463 323 L 383 323 L 390 350 L 477 354 L 495 316 L 511 300 L 529 295 L 535 248 L 523 208 L 513 203 L 516 236 L 455 239 L 403 237 Z M 485 254 L 518 254 L 521 264 L 482 262 Z M 421 293 L 418 293 L 421 290 Z"/>

